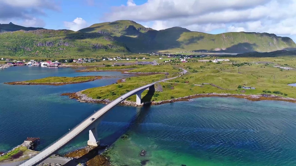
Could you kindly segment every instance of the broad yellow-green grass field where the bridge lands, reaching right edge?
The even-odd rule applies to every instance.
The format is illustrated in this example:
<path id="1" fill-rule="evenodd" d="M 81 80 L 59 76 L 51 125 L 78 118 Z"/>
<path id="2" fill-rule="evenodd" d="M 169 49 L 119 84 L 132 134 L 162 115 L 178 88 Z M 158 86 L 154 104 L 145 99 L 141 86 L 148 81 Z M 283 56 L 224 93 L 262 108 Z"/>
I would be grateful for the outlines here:
<path id="1" fill-rule="evenodd" d="M 296 87 L 287 85 L 296 82 L 296 70 L 285 70 L 273 67 L 273 65 L 279 65 L 296 69 L 295 57 L 228 57 L 228 59 L 230 59 L 230 61 L 223 61 L 221 64 L 199 62 L 196 60 L 190 60 L 194 62 L 188 63 L 179 63 L 178 61 L 175 61 L 162 63 L 166 65 L 141 66 L 141 68 L 129 71 L 142 72 L 146 68 L 146 71 L 153 71 L 156 69 L 158 69 L 157 71 L 166 71 L 166 68 L 169 68 L 168 71 L 170 71 L 170 75 L 167 76 L 169 78 L 173 72 L 179 70 L 177 66 L 187 69 L 188 73 L 182 77 L 169 80 L 168 82 L 161 82 L 160 85 L 162 86 L 163 92 L 155 92 L 152 101 L 163 101 L 200 93 L 230 93 L 246 95 L 269 93 L 282 97 L 296 98 Z M 257 64 L 256 62 L 273 62 L 273 64 L 265 65 L 260 63 Z M 234 65 L 232 65 L 232 63 Z M 239 67 L 236 65 L 241 63 L 246 64 L 239 65 Z M 113 100 L 131 89 L 148 84 L 151 81 L 157 81 L 159 80 L 159 77 L 164 78 L 164 76 L 164 74 L 156 74 L 152 76 L 130 77 L 126 79 L 126 82 L 87 89 L 83 93 L 94 99 Z M 233 90 L 219 89 L 204 83 L 211 83 L 225 89 Z M 256 89 L 238 89 L 239 85 L 255 87 Z M 279 91 L 280 94 L 273 93 L 274 91 Z M 144 91 L 142 97 L 146 94 L 147 91 Z M 127 100 L 135 101 L 136 99 L 135 96 L 132 96 Z"/>

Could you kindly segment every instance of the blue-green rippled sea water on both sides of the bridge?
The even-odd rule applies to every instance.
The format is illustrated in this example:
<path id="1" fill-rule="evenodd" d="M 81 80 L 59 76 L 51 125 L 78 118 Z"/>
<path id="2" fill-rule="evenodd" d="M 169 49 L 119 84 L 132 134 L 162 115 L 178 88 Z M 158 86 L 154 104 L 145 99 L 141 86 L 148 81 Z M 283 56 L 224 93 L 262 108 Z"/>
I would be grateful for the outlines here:
<path id="1" fill-rule="evenodd" d="M 6 85 L 48 76 L 101 75 L 72 85 Z M 120 72 L 77 73 L 35 66 L 0 70 L 0 152 L 39 137 L 41 150 L 104 105 L 80 103 L 65 92 L 115 83 Z M 114 165 L 296 165 L 296 104 L 206 97 L 149 107 L 116 106 L 100 119 L 101 144 Z M 59 151 L 86 146 L 88 131 Z M 140 151 L 147 153 L 140 156 Z M 145 161 L 145 162 L 144 162 Z"/>

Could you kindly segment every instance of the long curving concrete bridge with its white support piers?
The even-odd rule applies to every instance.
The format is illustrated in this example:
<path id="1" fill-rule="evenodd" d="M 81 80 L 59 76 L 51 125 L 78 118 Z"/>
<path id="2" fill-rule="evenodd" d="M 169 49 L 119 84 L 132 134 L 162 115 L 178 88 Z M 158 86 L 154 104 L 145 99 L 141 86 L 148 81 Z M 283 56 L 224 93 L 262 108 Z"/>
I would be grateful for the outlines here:
<path id="1" fill-rule="evenodd" d="M 182 70 L 183 70 L 183 72 L 182 72 L 183 74 L 185 74 L 187 72 L 185 69 L 182 69 Z M 181 75 L 179 75 L 179 76 L 181 76 Z M 179 76 L 177 76 L 177 77 L 179 77 Z M 161 81 L 167 81 L 167 80 L 171 80 L 171 79 L 174 79 L 174 78 L 177 78 L 177 77 L 168 78 L 168 79 L 164 79 L 164 80 L 161 80 Z M 60 137 L 58 140 L 56 140 L 52 144 L 48 145 L 46 148 L 44 148 L 42 151 L 37 153 L 35 156 L 32 156 L 31 158 L 29 158 L 27 160 L 24 160 L 23 162 L 21 162 L 17 166 L 35 166 L 35 165 L 38 165 L 43 160 L 45 160 L 46 158 L 51 156 L 54 152 L 56 152 L 60 148 L 62 148 L 70 140 L 75 138 L 78 134 L 83 132 L 86 128 L 89 129 L 89 140 L 87 141 L 87 144 L 91 145 L 91 146 L 98 146 L 100 144 L 100 140 L 98 139 L 96 120 L 99 117 L 101 117 L 105 112 L 112 109 L 115 105 L 121 103 L 122 101 L 124 101 L 126 98 L 128 98 L 130 96 L 136 95 L 136 104 L 141 105 L 142 104 L 142 102 L 141 102 L 141 93 L 143 93 L 144 90 L 146 90 L 148 88 L 149 89 L 154 88 L 154 84 L 158 83 L 158 82 L 161 82 L 161 81 L 156 81 L 156 82 L 153 82 L 151 84 L 144 85 L 144 86 L 142 86 L 140 88 L 137 88 L 137 89 L 134 89 L 134 90 L 132 90 L 132 91 L 130 91 L 128 93 L 125 93 L 121 97 L 118 97 L 117 99 L 110 102 L 108 105 L 105 105 L 103 108 L 101 108 L 97 112 L 93 113 L 92 115 L 90 115 L 89 117 L 84 119 L 84 121 L 80 122 L 80 124 L 76 125 L 72 130 L 70 130 L 69 132 L 64 134 L 62 137 Z M 90 121 L 91 118 L 94 118 L 94 120 Z"/>

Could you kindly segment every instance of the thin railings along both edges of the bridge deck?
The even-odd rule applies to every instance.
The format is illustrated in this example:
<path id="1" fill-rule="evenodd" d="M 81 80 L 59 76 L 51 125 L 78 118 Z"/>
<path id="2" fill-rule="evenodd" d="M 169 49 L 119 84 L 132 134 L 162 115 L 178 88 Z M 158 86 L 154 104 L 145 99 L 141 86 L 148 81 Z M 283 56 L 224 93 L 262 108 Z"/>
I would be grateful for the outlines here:
<path id="1" fill-rule="evenodd" d="M 178 77 L 178 76 L 177 76 Z M 166 77 L 164 77 L 163 79 L 159 79 L 159 81 L 162 81 L 162 80 L 165 80 L 165 79 L 168 79 Z M 154 81 L 152 82 L 151 84 L 153 83 L 156 83 L 156 82 L 159 82 L 159 81 Z M 149 85 L 149 84 L 147 84 Z M 146 86 L 146 85 L 144 85 Z M 142 87 L 142 86 L 141 86 Z M 139 88 L 141 88 L 139 87 Z M 135 88 L 135 89 L 138 89 L 138 88 Z M 134 89 L 134 90 L 135 90 Z M 119 99 L 116 98 L 115 100 Z M 118 102 L 119 103 L 119 102 Z M 114 105 L 117 105 L 118 103 L 115 103 L 113 105 L 111 105 L 111 107 L 113 107 Z M 104 109 L 105 107 L 107 107 L 108 105 L 105 105 L 104 107 L 102 107 L 101 109 Z M 101 110 L 99 109 L 99 110 Z M 85 118 L 83 121 L 81 121 L 79 124 L 77 124 L 74 128 L 72 128 L 71 130 L 69 130 L 67 133 L 65 133 L 63 136 L 61 136 L 59 139 L 55 140 L 53 143 L 49 144 L 47 147 L 43 148 L 39 153 L 31 156 L 29 159 L 27 160 L 24 160 L 23 162 L 19 163 L 18 165 L 16 166 L 21 166 L 21 165 L 24 165 L 24 166 L 32 166 L 36 163 L 38 163 L 40 160 L 43 160 L 44 158 L 47 158 L 50 154 L 54 153 L 55 151 L 57 151 L 59 148 L 61 148 L 62 146 L 64 146 L 65 144 L 67 144 L 70 140 L 72 140 L 75 136 L 77 136 L 78 134 L 80 134 L 80 132 L 82 132 L 85 128 L 87 128 L 91 123 L 92 121 L 90 121 L 84 128 L 82 128 L 79 132 L 76 132 L 76 134 L 74 134 L 73 136 L 71 136 L 68 140 L 64 141 L 64 143 L 62 143 L 61 145 L 59 145 L 57 148 L 55 148 L 54 150 L 51 150 L 50 152 L 48 152 L 47 154 L 43 155 L 42 158 L 39 158 L 38 160 L 36 160 L 34 163 L 32 164 L 29 164 L 29 165 L 25 165 L 24 163 L 27 162 L 28 160 L 32 159 L 33 157 L 39 155 L 41 152 L 43 152 L 44 150 L 46 150 L 47 148 L 49 148 L 50 146 L 52 146 L 53 144 L 57 143 L 58 141 L 60 141 L 61 139 L 63 139 L 66 135 L 70 134 L 70 132 L 72 132 L 73 130 L 75 130 L 80 124 L 84 123 L 85 121 L 89 120 L 90 117 L 92 117 L 94 114 L 96 114 L 97 112 L 95 113 L 92 113 L 90 116 L 88 116 L 87 118 Z M 102 112 L 98 117 L 101 117 L 101 115 L 103 115 L 105 112 Z"/>

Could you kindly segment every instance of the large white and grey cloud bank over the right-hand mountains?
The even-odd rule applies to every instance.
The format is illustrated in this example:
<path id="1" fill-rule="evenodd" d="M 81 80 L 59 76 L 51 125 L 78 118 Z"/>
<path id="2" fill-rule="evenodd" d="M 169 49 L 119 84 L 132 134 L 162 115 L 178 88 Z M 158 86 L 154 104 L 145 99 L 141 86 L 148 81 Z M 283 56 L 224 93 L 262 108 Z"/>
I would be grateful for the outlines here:
<path id="1" fill-rule="evenodd" d="M 150 23 L 156 30 L 181 26 L 189 30 L 267 32 L 296 35 L 296 0 L 147 0 L 113 7 L 105 21 Z"/>

